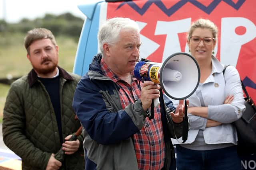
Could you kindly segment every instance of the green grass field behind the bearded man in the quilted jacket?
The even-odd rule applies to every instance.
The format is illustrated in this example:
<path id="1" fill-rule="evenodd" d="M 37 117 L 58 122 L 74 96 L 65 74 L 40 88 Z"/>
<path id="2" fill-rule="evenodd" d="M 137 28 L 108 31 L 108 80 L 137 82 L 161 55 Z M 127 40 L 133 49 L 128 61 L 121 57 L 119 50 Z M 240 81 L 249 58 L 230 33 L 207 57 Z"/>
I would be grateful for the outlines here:
<path id="1" fill-rule="evenodd" d="M 26 57 L 26 49 L 23 45 L 24 37 L 25 34 L 21 33 L 0 33 L 0 78 L 6 78 L 8 74 L 13 77 L 20 77 L 32 69 Z M 72 72 L 77 42 L 66 36 L 56 37 L 56 41 L 59 46 L 59 66 Z M 9 88 L 8 85 L 0 84 L 0 123 L 2 122 L 5 98 Z"/>

